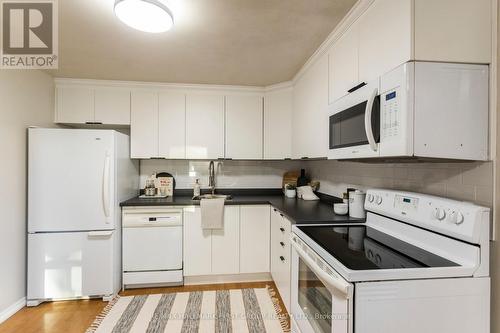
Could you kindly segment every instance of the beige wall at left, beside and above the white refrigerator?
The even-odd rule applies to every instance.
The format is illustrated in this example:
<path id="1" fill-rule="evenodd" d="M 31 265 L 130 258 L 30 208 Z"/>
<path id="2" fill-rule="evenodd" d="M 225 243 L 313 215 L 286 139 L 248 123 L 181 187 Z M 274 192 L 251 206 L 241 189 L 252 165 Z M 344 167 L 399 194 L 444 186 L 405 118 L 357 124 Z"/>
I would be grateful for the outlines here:
<path id="1" fill-rule="evenodd" d="M 51 125 L 52 78 L 0 70 L 0 315 L 26 296 L 26 128 Z"/>

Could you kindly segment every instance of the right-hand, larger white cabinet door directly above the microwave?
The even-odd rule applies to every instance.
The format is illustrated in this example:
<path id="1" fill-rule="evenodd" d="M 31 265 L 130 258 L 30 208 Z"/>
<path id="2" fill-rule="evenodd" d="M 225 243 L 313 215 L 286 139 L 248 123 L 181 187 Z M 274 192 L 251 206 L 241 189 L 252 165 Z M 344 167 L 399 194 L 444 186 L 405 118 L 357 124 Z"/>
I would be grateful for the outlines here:
<path id="1" fill-rule="evenodd" d="M 412 0 L 377 0 L 358 19 L 360 82 L 374 80 L 411 59 L 411 15 Z"/>

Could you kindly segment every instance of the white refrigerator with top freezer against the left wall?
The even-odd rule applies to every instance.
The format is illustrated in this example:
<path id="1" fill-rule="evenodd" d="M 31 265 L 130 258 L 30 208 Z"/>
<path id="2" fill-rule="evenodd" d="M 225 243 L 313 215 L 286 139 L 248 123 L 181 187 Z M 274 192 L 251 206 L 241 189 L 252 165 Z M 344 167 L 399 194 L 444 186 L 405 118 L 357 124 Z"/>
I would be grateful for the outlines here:
<path id="1" fill-rule="evenodd" d="M 119 203 L 138 194 L 130 140 L 113 130 L 28 130 L 28 305 L 121 288 Z"/>

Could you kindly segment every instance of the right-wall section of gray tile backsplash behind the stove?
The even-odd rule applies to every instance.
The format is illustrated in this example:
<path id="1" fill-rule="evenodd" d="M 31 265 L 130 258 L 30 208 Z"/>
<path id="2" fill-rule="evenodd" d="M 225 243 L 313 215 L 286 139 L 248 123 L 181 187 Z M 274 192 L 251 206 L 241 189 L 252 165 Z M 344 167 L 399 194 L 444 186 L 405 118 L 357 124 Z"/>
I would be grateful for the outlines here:
<path id="1" fill-rule="evenodd" d="M 356 163 L 311 161 L 304 167 L 320 192 L 341 196 L 347 187 L 390 188 L 493 206 L 493 163 Z"/>

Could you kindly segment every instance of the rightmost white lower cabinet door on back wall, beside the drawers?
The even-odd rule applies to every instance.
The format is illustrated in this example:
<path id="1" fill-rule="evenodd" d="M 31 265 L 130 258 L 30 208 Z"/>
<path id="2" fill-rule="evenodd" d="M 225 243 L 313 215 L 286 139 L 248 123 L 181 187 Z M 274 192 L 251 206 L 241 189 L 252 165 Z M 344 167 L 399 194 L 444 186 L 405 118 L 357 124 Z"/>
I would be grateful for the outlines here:
<path id="1" fill-rule="evenodd" d="M 270 272 L 269 205 L 240 208 L 240 273 Z"/>

